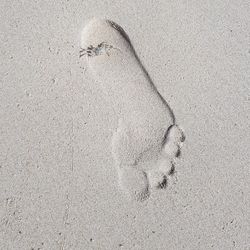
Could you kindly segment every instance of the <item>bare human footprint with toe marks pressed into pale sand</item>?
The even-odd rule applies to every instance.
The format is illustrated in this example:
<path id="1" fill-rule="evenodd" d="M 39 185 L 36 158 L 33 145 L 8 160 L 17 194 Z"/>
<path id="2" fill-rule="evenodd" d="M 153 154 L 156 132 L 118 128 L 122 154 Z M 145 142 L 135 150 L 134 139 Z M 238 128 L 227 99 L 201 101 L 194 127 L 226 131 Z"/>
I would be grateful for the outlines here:
<path id="1" fill-rule="evenodd" d="M 119 185 L 143 201 L 152 190 L 167 186 L 184 134 L 119 25 L 91 20 L 81 47 L 80 57 L 86 58 L 119 117 L 111 142 Z"/>

